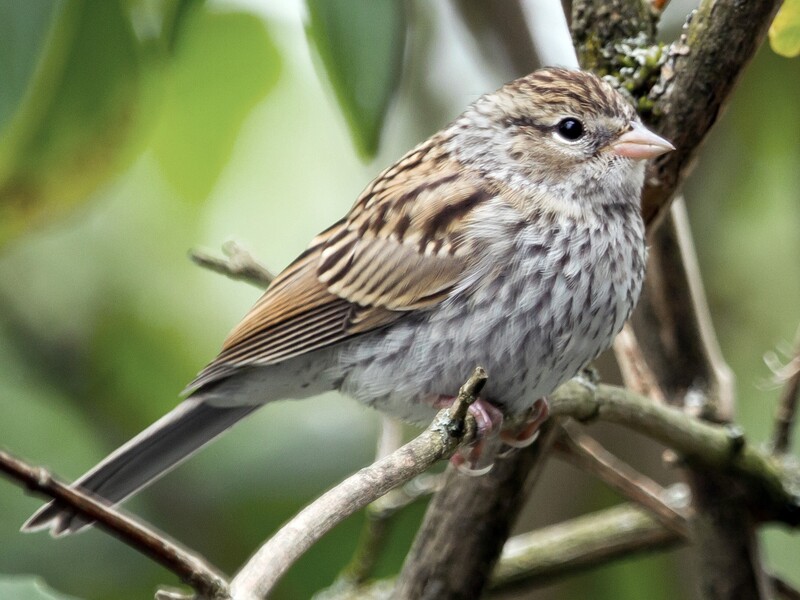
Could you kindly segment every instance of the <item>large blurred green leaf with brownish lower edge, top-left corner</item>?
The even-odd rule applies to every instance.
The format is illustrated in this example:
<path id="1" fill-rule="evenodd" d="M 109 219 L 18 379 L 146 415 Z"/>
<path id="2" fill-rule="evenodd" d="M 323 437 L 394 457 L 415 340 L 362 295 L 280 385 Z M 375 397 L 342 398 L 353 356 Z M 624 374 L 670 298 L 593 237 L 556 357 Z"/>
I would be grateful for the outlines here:
<path id="1" fill-rule="evenodd" d="M 127 166 L 158 99 L 159 40 L 133 26 L 141 2 L 39 4 L 5 2 L 0 13 L 18 28 L 0 46 L 13 74 L 0 104 L 0 243 Z"/>

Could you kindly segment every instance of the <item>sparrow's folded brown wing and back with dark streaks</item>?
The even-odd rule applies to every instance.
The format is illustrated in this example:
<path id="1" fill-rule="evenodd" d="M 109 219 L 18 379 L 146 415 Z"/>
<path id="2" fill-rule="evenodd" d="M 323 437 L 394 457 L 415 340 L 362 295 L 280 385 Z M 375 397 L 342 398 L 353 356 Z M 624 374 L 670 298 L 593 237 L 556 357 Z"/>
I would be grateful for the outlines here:
<path id="1" fill-rule="evenodd" d="M 234 328 L 189 393 L 248 365 L 275 364 L 431 308 L 473 261 L 462 235 L 492 197 L 429 141 L 384 171 L 318 235 Z"/>

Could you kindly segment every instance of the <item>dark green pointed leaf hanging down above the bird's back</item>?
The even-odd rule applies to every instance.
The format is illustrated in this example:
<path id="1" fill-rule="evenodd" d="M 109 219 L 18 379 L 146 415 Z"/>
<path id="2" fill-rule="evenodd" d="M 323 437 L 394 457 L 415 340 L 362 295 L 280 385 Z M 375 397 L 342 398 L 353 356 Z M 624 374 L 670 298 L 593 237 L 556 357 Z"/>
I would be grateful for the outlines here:
<path id="1" fill-rule="evenodd" d="M 396 0 L 306 0 L 307 33 L 322 59 L 358 153 L 375 155 L 400 79 L 406 38 Z"/>

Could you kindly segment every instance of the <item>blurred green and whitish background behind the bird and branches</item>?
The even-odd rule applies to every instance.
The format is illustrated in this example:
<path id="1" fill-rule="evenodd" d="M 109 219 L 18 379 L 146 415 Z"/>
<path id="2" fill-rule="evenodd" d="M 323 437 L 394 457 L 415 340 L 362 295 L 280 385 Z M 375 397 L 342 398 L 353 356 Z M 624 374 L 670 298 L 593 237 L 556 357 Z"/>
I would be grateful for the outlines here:
<path id="1" fill-rule="evenodd" d="M 391 2 L 367 14 L 365 3 L 341 0 L 368 24 L 361 42 L 341 35 L 325 4 L 0 6 L 0 446 L 64 478 L 80 475 L 171 408 L 259 296 L 192 265 L 190 248 L 218 253 L 235 239 L 281 269 L 379 170 L 479 94 L 532 69 L 520 66 L 524 52 L 507 51 L 519 23 L 500 28 L 511 44 L 482 26 L 500 2 L 414 0 L 403 16 Z M 673 3 L 665 39 L 690 6 Z M 407 34 L 392 38 L 398 29 Z M 331 68 L 342 51 L 355 71 Z M 375 88 L 347 97 L 359 73 Z M 739 419 L 754 440 L 768 438 L 778 395 L 763 356 L 790 345 L 800 314 L 798 97 L 800 62 L 762 49 L 686 186 Z M 299 508 L 370 462 L 377 429 L 375 413 L 333 394 L 278 403 L 127 507 L 233 572 Z M 619 429 L 600 434 L 656 478 L 674 479 L 658 447 Z M 551 462 L 521 527 L 619 500 Z M 0 481 L 4 597 L 39 597 L 22 576 L 87 599 L 152 597 L 177 583 L 97 531 L 57 541 L 19 534 L 39 504 Z M 423 509 L 398 518 L 380 574 L 398 568 Z M 318 544 L 276 598 L 328 585 L 361 522 Z M 774 570 L 800 584 L 797 540 L 774 527 L 762 539 Z M 691 585 L 688 555 L 670 552 L 534 595 L 668 599 Z"/>

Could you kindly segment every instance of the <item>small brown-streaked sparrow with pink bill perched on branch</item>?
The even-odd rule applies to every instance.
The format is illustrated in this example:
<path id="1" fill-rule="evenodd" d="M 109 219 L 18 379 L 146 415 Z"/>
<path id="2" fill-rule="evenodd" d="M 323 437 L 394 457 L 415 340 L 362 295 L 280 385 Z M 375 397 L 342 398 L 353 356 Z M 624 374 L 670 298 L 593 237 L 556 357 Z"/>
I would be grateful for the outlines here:
<path id="1" fill-rule="evenodd" d="M 502 428 L 630 316 L 645 161 L 673 149 L 589 72 L 480 96 L 273 280 L 177 407 L 73 485 L 117 504 L 260 406 L 329 390 L 424 425 L 476 365 L 479 426 Z M 89 524 L 52 501 L 23 529 Z"/>

